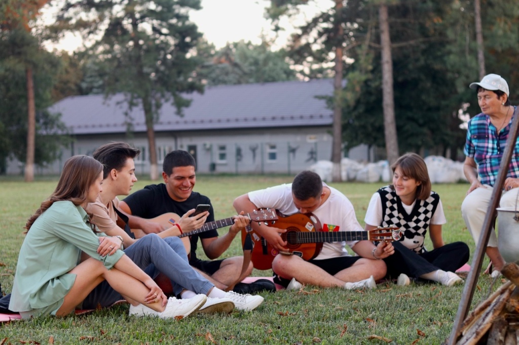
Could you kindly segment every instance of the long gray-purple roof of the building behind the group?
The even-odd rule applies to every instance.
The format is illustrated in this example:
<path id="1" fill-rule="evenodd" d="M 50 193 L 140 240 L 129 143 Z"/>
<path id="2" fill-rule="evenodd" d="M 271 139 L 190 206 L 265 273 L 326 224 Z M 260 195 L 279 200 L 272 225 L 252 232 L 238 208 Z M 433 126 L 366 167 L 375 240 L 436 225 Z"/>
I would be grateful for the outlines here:
<path id="1" fill-rule="evenodd" d="M 184 95 L 193 99 L 184 108 L 184 117 L 177 116 L 171 104 L 164 104 L 155 131 L 329 126 L 333 110 L 316 96 L 332 95 L 332 79 L 206 87 L 203 94 Z M 60 112 L 74 134 L 124 133 L 127 122 L 133 124 L 134 132 L 145 132 L 142 107 L 134 107 L 126 117 L 124 99 L 123 94 L 107 99 L 103 95 L 72 96 L 50 111 Z"/>

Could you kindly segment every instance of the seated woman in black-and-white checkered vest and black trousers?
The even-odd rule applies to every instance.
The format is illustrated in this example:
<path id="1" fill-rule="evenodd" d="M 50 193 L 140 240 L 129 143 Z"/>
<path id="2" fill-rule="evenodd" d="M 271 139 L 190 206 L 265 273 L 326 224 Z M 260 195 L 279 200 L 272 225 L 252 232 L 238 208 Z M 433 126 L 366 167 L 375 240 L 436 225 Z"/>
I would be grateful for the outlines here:
<path id="1" fill-rule="evenodd" d="M 384 259 L 386 277 L 398 277 L 399 285 L 408 285 L 409 277 L 446 286 L 461 283 L 454 272 L 469 260 L 469 247 L 463 242 L 443 242 L 442 224 L 447 221 L 440 196 L 431 191 L 424 160 L 416 153 L 406 153 L 391 169 L 393 184 L 373 194 L 364 218 L 366 230 L 397 226 L 402 231 L 402 239 L 393 243 L 395 253 Z M 428 229 L 431 251 L 424 246 Z"/>

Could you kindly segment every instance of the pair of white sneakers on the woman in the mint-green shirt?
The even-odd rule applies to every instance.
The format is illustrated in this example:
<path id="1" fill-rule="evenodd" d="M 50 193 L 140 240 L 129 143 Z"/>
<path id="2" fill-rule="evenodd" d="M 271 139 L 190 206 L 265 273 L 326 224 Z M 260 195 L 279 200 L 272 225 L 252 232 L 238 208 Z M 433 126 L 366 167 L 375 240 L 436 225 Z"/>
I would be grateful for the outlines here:
<path id="1" fill-rule="evenodd" d="M 168 298 L 168 304 L 166 309 L 162 312 L 153 310 L 152 308 L 146 307 L 143 304 L 138 306 L 130 305 L 130 315 L 142 317 L 145 315 L 159 317 L 161 319 L 174 318 L 181 320 L 187 315 L 197 311 L 200 307 L 206 303 L 207 296 L 203 294 L 196 295 L 193 298 L 188 299 L 176 299 L 175 297 Z"/>

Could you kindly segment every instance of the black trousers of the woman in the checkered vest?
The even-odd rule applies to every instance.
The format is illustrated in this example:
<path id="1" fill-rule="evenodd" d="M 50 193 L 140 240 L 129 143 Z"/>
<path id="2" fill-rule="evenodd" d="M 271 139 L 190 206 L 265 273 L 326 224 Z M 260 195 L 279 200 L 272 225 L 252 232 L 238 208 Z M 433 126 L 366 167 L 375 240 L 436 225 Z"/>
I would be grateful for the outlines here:
<path id="1" fill-rule="evenodd" d="M 430 252 L 417 253 L 399 241 L 393 242 L 394 254 L 386 257 L 387 278 L 397 278 L 401 273 L 418 278 L 441 269 L 454 272 L 469 261 L 469 246 L 464 242 L 449 243 Z"/>

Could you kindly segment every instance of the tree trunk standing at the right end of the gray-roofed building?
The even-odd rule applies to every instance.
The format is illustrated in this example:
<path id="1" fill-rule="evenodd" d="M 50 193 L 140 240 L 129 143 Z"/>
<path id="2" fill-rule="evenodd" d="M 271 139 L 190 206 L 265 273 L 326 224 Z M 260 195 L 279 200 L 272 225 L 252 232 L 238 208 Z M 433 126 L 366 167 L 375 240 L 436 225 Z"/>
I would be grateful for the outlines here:
<path id="1" fill-rule="evenodd" d="M 335 26 L 337 29 L 338 43 L 335 46 L 335 79 L 333 84 L 334 100 L 333 100 L 333 142 L 332 142 L 332 181 L 340 182 L 340 160 L 342 159 L 343 133 L 342 133 L 342 97 L 343 90 L 343 46 L 342 37 L 344 29 L 342 23 L 338 20 L 338 13 L 343 9 L 343 0 L 335 0 L 335 13 L 337 13 Z"/>

